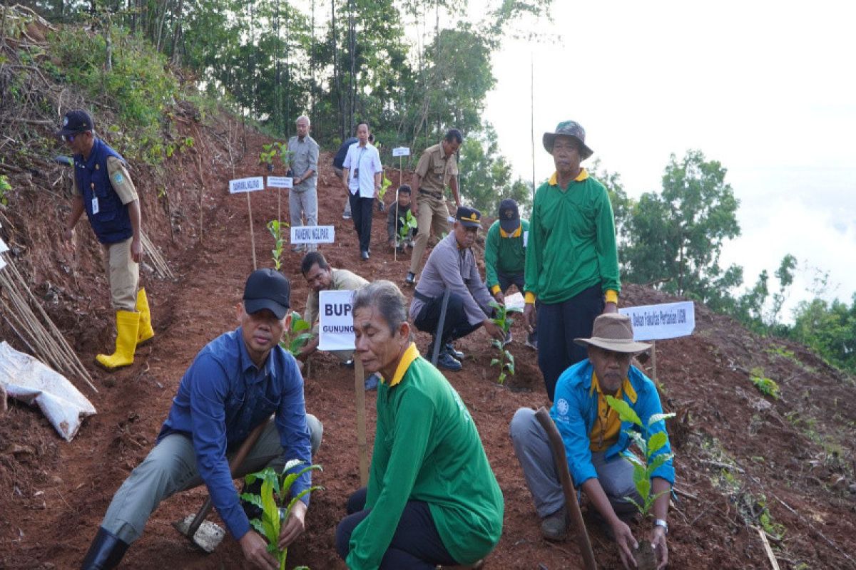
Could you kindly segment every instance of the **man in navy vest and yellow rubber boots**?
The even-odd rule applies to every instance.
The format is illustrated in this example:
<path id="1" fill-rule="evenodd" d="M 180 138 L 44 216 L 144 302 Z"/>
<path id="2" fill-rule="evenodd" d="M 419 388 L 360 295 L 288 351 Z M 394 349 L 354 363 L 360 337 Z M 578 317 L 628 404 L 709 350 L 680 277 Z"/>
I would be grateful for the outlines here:
<path id="1" fill-rule="evenodd" d="M 112 371 L 134 362 L 137 344 L 154 337 L 146 291 L 139 289 L 140 199 L 125 159 L 95 136 L 86 111 L 69 111 L 56 134 L 74 154 L 74 199 L 64 238 L 74 237 L 74 226 L 86 211 L 92 231 L 104 250 L 104 269 L 116 310 L 116 350 L 96 361 Z"/>

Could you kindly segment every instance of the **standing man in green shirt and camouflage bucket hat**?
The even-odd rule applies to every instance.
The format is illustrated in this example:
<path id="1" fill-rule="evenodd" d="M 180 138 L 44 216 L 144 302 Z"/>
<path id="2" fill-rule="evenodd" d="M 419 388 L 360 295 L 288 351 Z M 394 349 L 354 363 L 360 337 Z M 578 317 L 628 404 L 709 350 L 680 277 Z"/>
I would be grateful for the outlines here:
<path id="1" fill-rule="evenodd" d="M 609 195 L 580 167 L 592 154 L 586 131 L 562 121 L 544 133 L 544 149 L 556 172 L 532 204 L 524 316 L 530 330 L 537 324 L 538 367 L 552 402 L 559 375 L 586 358 L 574 338 L 590 337 L 597 315 L 617 312 L 621 282 Z"/>

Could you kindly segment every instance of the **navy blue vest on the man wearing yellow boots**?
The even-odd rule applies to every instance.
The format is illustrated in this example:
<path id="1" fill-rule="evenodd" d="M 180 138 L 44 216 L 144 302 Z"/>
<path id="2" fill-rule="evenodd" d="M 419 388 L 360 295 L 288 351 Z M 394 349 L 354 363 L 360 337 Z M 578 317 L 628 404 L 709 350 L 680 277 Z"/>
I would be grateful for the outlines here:
<path id="1" fill-rule="evenodd" d="M 86 162 L 82 155 L 74 155 L 77 188 L 83 195 L 83 205 L 89 223 L 92 224 L 92 231 L 102 244 L 116 244 L 130 238 L 134 233 L 128 206 L 122 203 L 110 184 L 110 173 L 107 172 L 109 156 L 115 156 L 125 162 L 122 155 L 100 138 L 95 139 Z"/>

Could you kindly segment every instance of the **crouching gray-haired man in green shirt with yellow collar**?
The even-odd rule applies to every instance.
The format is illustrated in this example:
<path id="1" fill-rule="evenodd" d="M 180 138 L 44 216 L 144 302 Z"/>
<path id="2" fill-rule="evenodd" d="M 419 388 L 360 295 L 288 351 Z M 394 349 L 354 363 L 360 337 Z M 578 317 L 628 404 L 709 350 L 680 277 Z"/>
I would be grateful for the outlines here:
<path id="1" fill-rule="evenodd" d="M 411 341 L 401 291 L 354 298 L 356 356 L 383 381 L 368 487 L 348 500 L 336 549 L 352 570 L 473 564 L 502 534 L 502 491 L 473 418 Z"/>

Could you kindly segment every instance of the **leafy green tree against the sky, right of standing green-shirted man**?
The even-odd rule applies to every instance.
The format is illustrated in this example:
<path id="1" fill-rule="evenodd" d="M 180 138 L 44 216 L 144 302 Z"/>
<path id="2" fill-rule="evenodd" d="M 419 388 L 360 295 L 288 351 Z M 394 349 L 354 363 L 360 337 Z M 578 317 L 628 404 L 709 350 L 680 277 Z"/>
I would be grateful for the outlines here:
<path id="1" fill-rule="evenodd" d="M 633 241 L 625 250 L 627 279 L 662 283 L 663 290 L 711 307 L 728 304 L 728 290 L 742 281 L 742 268 L 719 265 L 722 244 L 740 235 L 738 200 L 725 182 L 726 169 L 688 150 L 669 159 L 663 191 L 648 192 L 629 220 Z"/>

